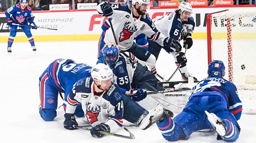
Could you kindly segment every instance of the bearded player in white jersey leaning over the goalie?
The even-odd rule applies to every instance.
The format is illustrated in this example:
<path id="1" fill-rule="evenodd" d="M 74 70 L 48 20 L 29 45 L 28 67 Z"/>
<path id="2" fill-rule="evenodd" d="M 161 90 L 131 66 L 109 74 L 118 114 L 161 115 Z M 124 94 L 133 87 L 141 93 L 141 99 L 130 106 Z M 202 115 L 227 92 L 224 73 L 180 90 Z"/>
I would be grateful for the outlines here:
<path id="1" fill-rule="evenodd" d="M 150 8 L 150 0 L 132 0 L 132 3 L 133 6 L 123 3 L 110 4 L 102 2 L 97 6 L 97 11 L 102 16 L 111 16 L 113 18 L 112 23 L 119 48 L 122 51 L 131 52 L 139 60 L 151 63 L 150 66 L 153 70 L 156 58 L 149 51 L 133 43 L 133 39 L 137 35 L 144 33 L 149 40 L 155 41 L 161 46 L 180 49 L 181 45 L 177 40 L 168 38 L 159 32 L 150 17 L 146 15 L 146 10 Z M 112 30 L 107 30 L 104 43 L 114 41 Z M 179 56 L 179 62 L 186 61 L 182 54 Z"/>

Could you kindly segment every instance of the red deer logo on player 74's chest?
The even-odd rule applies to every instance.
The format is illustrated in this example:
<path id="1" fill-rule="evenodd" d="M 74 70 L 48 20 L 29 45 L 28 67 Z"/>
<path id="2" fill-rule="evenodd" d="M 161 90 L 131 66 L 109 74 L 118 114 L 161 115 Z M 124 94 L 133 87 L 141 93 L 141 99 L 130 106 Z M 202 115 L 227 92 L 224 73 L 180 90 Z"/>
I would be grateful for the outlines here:
<path id="1" fill-rule="evenodd" d="M 96 121 L 98 121 L 98 115 L 100 113 L 100 105 L 95 105 L 93 106 L 92 103 L 86 102 L 86 115 L 85 117 L 87 118 L 87 121 L 92 124 Z"/>

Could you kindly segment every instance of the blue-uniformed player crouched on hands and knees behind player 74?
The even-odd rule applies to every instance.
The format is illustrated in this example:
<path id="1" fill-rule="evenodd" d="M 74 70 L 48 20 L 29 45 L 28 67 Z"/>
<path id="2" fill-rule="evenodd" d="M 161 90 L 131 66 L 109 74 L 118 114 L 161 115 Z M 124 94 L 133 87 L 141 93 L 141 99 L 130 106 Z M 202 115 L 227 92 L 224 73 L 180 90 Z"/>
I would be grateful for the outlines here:
<path id="1" fill-rule="evenodd" d="M 67 95 L 79 79 L 91 76 L 91 66 L 77 64 L 70 59 L 57 59 L 52 62 L 39 78 L 40 107 L 39 114 L 45 121 L 57 116 L 58 93 L 64 93 L 63 108 L 66 109 Z M 63 98 L 63 97 L 62 97 Z M 75 111 L 77 117 L 83 117 L 82 106 Z"/>

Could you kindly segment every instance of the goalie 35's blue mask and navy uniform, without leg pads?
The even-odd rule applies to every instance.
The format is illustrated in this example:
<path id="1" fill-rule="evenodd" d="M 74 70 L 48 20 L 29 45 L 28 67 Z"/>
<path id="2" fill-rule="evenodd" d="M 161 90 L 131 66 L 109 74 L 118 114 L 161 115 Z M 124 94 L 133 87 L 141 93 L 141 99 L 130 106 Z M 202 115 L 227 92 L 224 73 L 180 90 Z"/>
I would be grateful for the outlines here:
<path id="1" fill-rule="evenodd" d="M 120 56 L 118 45 L 109 42 L 104 45 L 102 53 L 104 63 L 113 70 L 114 81 L 119 87 L 126 91 L 130 91 L 131 88 L 143 88 L 149 91 L 165 90 L 157 84 L 155 75 L 146 66 Z"/>

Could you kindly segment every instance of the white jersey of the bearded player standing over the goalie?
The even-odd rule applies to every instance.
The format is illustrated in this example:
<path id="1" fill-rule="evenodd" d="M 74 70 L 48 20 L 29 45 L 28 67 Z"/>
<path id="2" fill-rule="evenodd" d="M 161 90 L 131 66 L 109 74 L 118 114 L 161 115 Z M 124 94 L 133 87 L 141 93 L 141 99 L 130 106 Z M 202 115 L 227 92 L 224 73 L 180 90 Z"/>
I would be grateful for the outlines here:
<path id="1" fill-rule="evenodd" d="M 101 10 L 102 3 L 97 6 L 97 11 L 100 15 L 103 15 Z M 149 40 L 156 41 L 159 45 L 163 46 L 163 41 L 166 37 L 157 30 L 149 16 L 145 14 L 134 18 L 132 16 L 132 6 L 123 3 L 110 5 L 113 8 L 113 14 L 111 15 L 113 19 L 111 22 L 121 50 L 128 50 L 132 46 L 133 39 L 141 33 L 147 35 Z M 115 43 L 111 27 L 109 29 L 105 33 L 104 42 Z"/>

